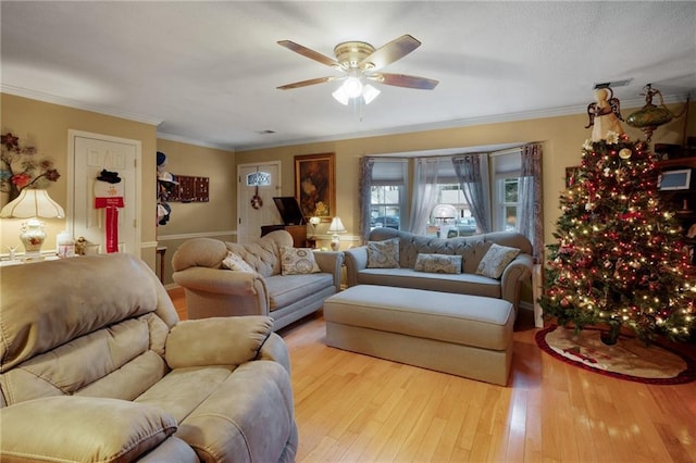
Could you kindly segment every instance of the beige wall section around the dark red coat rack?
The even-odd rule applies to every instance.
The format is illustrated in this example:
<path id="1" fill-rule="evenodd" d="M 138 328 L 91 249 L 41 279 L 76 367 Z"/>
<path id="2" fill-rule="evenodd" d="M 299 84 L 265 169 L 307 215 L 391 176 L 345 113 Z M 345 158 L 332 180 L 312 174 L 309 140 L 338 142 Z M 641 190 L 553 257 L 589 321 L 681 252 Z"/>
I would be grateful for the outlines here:
<path id="1" fill-rule="evenodd" d="M 172 254 L 192 236 L 210 236 L 234 241 L 236 232 L 237 182 L 232 151 L 204 148 L 178 141 L 157 140 L 157 150 L 166 154 L 164 170 L 176 175 L 209 177 L 209 202 L 170 202 L 172 214 L 157 229 L 158 242 L 166 247 L 164 284 L 172 281 Z M 159 265 L 159 263 L 158 263 Z M 159 268 L 158 268 L 159 272 Z"/>

